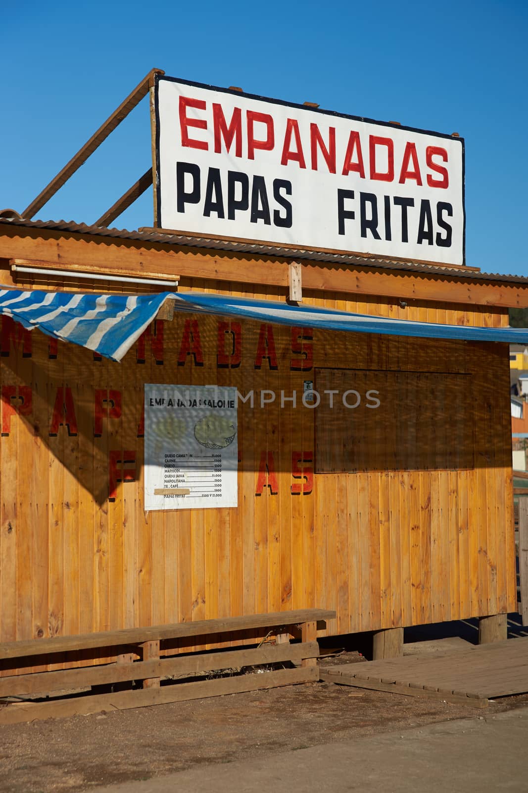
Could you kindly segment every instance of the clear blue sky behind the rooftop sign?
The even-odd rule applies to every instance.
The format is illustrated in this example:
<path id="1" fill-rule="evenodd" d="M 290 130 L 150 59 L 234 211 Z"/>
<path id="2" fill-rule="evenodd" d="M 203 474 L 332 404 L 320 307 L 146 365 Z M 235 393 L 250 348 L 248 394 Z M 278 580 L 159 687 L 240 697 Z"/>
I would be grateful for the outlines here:
<path id="1" fill-rule="evenodd" d="M 466 261 L 528 275 L 528 2 L 26 2 L 2 10 L 0 209 L 152 67 L 465 138 Z M 150 166 L 147 100 L 38 214 L 93 223 Z M 151 193 L 116 220 L 151 225 Z"/>

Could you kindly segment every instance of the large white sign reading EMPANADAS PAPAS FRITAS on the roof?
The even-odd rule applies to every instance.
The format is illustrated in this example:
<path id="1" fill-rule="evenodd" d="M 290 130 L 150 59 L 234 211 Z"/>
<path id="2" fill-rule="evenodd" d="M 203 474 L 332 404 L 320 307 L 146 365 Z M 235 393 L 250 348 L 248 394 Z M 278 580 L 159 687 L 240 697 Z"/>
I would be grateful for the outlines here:
<path id="1" fill-rule="evenodd" d="M 166 77 L 155 114 L 161 228 L 464 263 L 462 138 Z"/>

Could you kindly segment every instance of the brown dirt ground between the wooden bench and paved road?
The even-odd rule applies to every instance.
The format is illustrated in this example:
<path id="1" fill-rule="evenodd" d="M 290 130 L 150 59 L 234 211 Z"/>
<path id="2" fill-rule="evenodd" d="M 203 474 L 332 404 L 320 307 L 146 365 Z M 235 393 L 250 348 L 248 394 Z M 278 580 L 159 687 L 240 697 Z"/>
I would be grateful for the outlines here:
<path id="1" fill-rule="evenodd" d="M 357 652 L 329 663 L 363 661 Z M 526 706 L 528 695 L 486 714 Z M 0 791 L 89 791 L 203 763 L 230 763 L 484 711 L 382 691 L 310 683 L 191 702 L 0 726 Z"/>

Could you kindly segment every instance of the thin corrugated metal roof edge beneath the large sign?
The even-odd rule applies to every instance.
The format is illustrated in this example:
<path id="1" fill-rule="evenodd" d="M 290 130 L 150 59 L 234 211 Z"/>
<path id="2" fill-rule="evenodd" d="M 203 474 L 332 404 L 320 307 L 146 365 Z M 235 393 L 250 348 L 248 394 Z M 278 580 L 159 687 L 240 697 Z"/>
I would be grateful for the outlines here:
<path id="1" fill-rule="evenodd" d="M 359 265 L 375 267 L 383 270 L 400 270 L 411 273 L 427 273 L 443 275 L 450 278 L 471 278 L 479 281 L 498 281 L 528 285 L 528 278 L 522 275 L 503 275 L 500 273 L 481 273 L 465 270 L 463 267 L 435 266 L 419 262 L 398 262 L 393 259 L 368 259 L 363 256 L 348 254 L 324 253 L 322 251 L 306 251 L 303 248 L 284 248 L 262 243 L 233 242 L 226 239 L 207 239 L 184 234 L 167 234 L 158 232 L 130 232 L 120 228 L 101 228 L 88 226 L 85 223 L 74 223 L 73 220 L 26 220 L 25 218 L 0 218 L 0 224 L 22 226 L 24 228 L 46 228 L 51 231 L 91 234 L 93 236 L 112 237 L 115 239 L 131 239 L 139 242 L 164 243 L 180 247 L 209 248 L 215 251 L 232 251 L 264 256 L 279 256 L 281 259 L 303 259 L 312 262 L 329 262 L 332 264 Z"/>

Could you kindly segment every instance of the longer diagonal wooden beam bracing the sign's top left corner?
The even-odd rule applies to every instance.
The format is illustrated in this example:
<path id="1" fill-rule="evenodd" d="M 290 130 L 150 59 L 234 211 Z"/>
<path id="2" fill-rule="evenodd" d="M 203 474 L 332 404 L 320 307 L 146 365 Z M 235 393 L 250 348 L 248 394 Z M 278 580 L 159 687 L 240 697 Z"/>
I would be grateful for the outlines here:
<path id="1" fill-rule="evenodd" d="M 82 163 L 85 163 L 86 160 L 89 158 L 93 152 L 101 146 L 102 142 L 108 138 L 111 132 L 116 129 L 117 126 L 120 125 L 123 118 L 126 118 L 128 113 L 131 112 L 135 108 L 136 105 L 139 105 L 142 98 L 146 96 L 149 91 L 152 79 L 154 75 L 164 75 L 165 72 L 161 69 L 151 69 L 148 75 L 139 82 L 139 85 L 135 86 L 135 89 L 128 94 L 127 98 L 121 102 L 120 106 L 114 110 L 111 116 L 104 121 L 104 124 L 94 132 L 93 136 L 88 140 L 85 145 L 79 149 L 76 155 L 74 155 L 70 162 L 67 163 L 63 170 L 59 171 L 54 178 L 51 179 L 51 182 L 44 187 L 44 190 L 39 193 L 39 195 L 31 202 L 31 204 L 26 207 L 24 212 L 22 213 L 23 217 L 32 217 L 35 215 L 44 204 L 47 204 L 47 201 L 50 200 L 51 197 L 55 195 L 57 190 L 59 190 L 65 182 L 72 176 L 78 168 L 82 166 Z"/>

